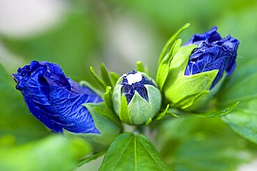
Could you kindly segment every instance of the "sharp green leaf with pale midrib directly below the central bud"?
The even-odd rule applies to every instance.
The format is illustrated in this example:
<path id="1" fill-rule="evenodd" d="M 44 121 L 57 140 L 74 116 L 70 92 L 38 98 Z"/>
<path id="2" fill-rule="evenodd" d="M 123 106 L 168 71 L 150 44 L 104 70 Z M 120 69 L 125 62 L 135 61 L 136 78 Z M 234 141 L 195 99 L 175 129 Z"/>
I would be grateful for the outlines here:
<path id="1" fill-rule="evenodd" d="M 155 147 L 143 135 L 127 132 L 118 136 L 110 145 L 99 171 L 170 170 Z"/>

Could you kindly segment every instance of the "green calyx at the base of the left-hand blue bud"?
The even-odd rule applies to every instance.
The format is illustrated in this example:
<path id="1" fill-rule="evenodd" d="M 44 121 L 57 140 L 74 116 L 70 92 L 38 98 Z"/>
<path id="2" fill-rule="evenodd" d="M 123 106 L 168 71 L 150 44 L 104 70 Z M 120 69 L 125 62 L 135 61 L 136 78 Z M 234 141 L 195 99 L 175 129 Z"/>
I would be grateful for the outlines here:
<path id="1" fill-rule="evenodd" d="M 84 104 L 90 111 L 90 115 L 94 120 L 94 125 L 99 130 L 100 134 L 93 133 L 74 133 L 63 129 L 63 134 L 69 137 L 80 137 L 90 143 L 94 149 L 94 152 L 101 152 L 106 150 L 108 145 L 113 139 L 122 132 L 121 124 L 114 121 L 114 114 L 112 111 L 106 109 L 103 102 L 99 103 L 86 103 Z"/>

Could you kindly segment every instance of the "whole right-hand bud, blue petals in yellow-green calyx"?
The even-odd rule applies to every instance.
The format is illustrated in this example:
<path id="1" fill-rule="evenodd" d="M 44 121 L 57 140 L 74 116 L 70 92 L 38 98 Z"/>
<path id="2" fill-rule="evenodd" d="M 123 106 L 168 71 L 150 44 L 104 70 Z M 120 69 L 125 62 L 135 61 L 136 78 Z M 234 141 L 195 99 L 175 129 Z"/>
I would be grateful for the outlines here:
<path id="1" fill-rule="evenodd" d="M 165 98 L 172 107 L 197 110 L 217 92 L 224 78 L 235 69 L 238 39 L 230 35 L 222 38 L 217 27 L 193 35 L 180 47 L 174 43 L 168 55 L 169 63 L 160 63 L 158 85 L 163 86 Z M 166 65 L 165 65 L 166 64 Z M 167 71 L 162 80 L 160 71 Z"/>

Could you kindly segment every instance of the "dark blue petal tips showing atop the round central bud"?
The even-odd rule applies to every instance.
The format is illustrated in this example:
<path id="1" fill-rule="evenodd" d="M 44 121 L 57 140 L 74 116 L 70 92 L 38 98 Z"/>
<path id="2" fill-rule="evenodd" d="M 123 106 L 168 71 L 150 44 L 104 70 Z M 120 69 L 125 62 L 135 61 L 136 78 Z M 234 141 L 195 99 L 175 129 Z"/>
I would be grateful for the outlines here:
<path id="1" fill-rule="evenodd" d="M 149 97 L 147 96 L 147 89 L 144 87 L 145 84 L 154 85 L 154 83 L 151 80 L 148 80 L 144 76 L 142 76 L 142 80 L 140 82 L 135 82 L 133 84 L 128 84 L 128 80 L 126 78 L 127 75 L 129 74 L 135 74 L 137 73 L 135 70 L 132 70 L 131 72 L 127 73 L 123 78 L 122 78 L 122 93 L 125 94 L 127 102 L 131 102 L 131 99 L 133 98 L 135 91 L 139 93 L 142 98 L 147 100 L 149 102 Z"/>

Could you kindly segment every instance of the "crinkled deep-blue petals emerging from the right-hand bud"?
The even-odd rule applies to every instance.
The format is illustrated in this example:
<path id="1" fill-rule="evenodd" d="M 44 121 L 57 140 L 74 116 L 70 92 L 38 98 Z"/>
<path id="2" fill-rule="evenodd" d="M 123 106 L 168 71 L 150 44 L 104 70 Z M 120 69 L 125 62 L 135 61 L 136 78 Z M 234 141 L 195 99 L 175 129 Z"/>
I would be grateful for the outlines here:
<path id="1" fill-rule="evenodd" d="M 240 44 L 238 39 L 230 35 L 222 39 L 217 33 L 217 27 L 213 26 L 206 33 L 193 35 L 185 45 L 188 44 L 195 44 L 199 48 L 192 51 L 185 75 L 218 69 L 219 72 L 210 87 L 212 89 L 222 78 L 224 71 L 226 71 L 227 76 L 233 73 L 238 44 Z"/>

